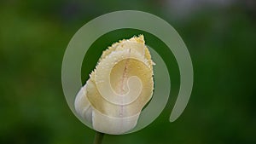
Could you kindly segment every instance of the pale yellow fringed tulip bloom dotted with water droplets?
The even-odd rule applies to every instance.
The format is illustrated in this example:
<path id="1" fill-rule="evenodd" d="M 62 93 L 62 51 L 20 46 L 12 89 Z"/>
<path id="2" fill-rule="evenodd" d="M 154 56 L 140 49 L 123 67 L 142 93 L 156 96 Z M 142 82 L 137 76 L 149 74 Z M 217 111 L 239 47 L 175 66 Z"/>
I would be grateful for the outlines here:
<path id="1" fill-rule="evenodd" d="M 76 96 L 76 111 L 102 133 L 132 130 L 153 95 L 153 65 L 143 35 L 113 43 Z"/>

